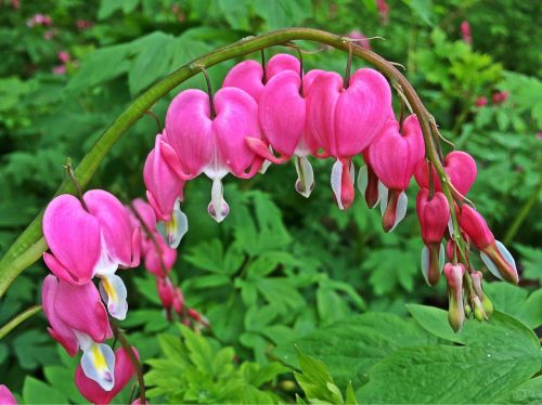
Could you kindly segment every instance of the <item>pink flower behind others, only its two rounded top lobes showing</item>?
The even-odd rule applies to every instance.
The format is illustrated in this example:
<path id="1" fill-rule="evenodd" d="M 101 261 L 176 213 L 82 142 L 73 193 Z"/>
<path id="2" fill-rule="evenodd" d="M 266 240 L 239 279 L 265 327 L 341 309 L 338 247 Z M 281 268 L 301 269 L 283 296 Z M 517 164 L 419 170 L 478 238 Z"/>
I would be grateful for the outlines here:
<path id="1" fill-rule="evenodd" d="M 279 53 L 271 57 L 266 65 L 266 71 L 256 61 L 244 61 L 236 64 L 225 76 L 223 87 L 244 90 L 256 102 L 259 102 L 261 92 L 274 75 L 284 70 L 292 70 L 299 75 L 299 61 L 287 53 Z M 263 77 L 266 76 L 266 77 Z"/>

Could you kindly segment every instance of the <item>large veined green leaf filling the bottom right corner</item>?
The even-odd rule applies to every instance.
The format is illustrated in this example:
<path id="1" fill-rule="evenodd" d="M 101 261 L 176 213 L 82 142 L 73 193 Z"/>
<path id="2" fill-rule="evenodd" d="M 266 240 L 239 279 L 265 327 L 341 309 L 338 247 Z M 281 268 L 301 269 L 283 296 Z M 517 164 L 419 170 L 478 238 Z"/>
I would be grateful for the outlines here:
<path id="1" fill-rule="evenodd" d="M 491 402 L 527 381 L 542 365 L 538 338 L 508 315 L 495 312 L 488 322 L 468 321 L 461 338 L 466 345 L 404 348 L 390 354 L 371 368 L 358 399 L 362 403 Z"/>

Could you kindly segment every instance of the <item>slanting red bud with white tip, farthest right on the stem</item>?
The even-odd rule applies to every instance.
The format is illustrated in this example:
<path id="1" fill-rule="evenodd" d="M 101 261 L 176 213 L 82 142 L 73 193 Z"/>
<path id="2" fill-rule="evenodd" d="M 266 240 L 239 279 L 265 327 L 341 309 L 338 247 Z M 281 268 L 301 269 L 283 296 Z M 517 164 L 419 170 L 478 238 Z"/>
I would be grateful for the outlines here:
<path id="1" fill-rule="evenodd" d="M 495 240 L 483 217 L 470 206 L 461 206 L 460 226 L 480 250 L 480 257 L 489 271 L 501 279 L 517 284 L 516 262 L 506 247 Z"/>

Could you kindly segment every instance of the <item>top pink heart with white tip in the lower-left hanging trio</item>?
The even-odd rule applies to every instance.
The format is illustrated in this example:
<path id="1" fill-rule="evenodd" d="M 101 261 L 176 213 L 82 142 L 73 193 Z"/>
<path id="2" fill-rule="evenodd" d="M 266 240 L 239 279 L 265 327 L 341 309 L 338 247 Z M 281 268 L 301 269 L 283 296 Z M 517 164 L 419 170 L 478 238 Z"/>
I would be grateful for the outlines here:
<path id="1" fill-rule="evenodd" d="M 70 285 L 89 283 L 98 275 L 111 315 L 124 319 L 127 291 L 115 272 L 119 266 L 139 265 L 140 230 L 132 227 L 125 207 L 113 194 L 91 190 L 83 200 L 86 207 L 64 194 L 49 204 L 43 235 L 51 253 L 43 253 L 43 260 L 53 274 Z"/>

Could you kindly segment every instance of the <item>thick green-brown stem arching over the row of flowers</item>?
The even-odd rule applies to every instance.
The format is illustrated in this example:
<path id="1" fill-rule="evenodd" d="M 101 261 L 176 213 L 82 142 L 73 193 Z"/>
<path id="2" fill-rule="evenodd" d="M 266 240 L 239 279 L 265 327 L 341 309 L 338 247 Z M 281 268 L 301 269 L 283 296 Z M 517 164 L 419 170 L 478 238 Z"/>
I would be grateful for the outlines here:
<path id="1" fill-rule="evenodd" d="M 392 84 L 398 84 L 402 90 L 402 95 L 409 101 L 410 106 L 416 114 L 424 134 L 426 156 L 434 165 L 440 179 L 447 179 L 448 175 L 442 168 L 438 158 L 435 143 L 431 139 L 429 122 L 434 120 L 433 116 L 423 105 L 420 96 L 414 91 L 406 78 L 388 61 L 378 54 L 364 50 L 360 45 L 352 44 L 344 40 L 344 37 L 325 32 L 319 29 L 311 28 L 286 28 L 263 34 L 258 37 L 243 39 L 231 45 L 220 48 L 214 52 L 198 57 L 191 63 L 182 66 L 169 76 L 165 77 L 156 84 L 146 90 L 138 99 L 136 99 L 120 116 L 105 130 L 100 139 L 94 143 L 91 149 L 82 158 L 81 162 L 75 170 L 75 175 L 79 180 L 81 187 L 85 187 L 100 164 L 107 155 L 109 149 L 117 143 L 120 136 L 144 114 L 156 101 L 166 93 L 175 89 L 186 79 L 193 77 L 201 71 L 201 67 L 210 67 L 218 63 L 247 55 L 253 52 L 258 52 L 262 49 L 280 45 L 294 40 L 309 40 L 331 45 L 344 52 L 349 52 L 351 49 L 354 56 L 361 57 L 364 61 L 376 67 L 382 74 L 391 80 Z M 453 199 L 448 190 L 446 182 L 443 188 L 449 197 L 450 205 L 453 207 Z M 69 180 L 65 180 L 55 195 L 76 192 Z M 0 261 L 0 297 L 5 292 L 11 283 L 26 269 L 41 257 L 41 253 L 47 249 L 47 245 L 42 237 L 41 218 L 43 212 L 38 214 L 28 227 L 18 236 L 15 243 L 5 252 Z M 452 218 L 454 224 L 456 222 L 455 212 L 452 209 Z M 455 228 L 459 232 L 459 228 Z M 461 236 L 460 236 L 461 237 Z"/>

